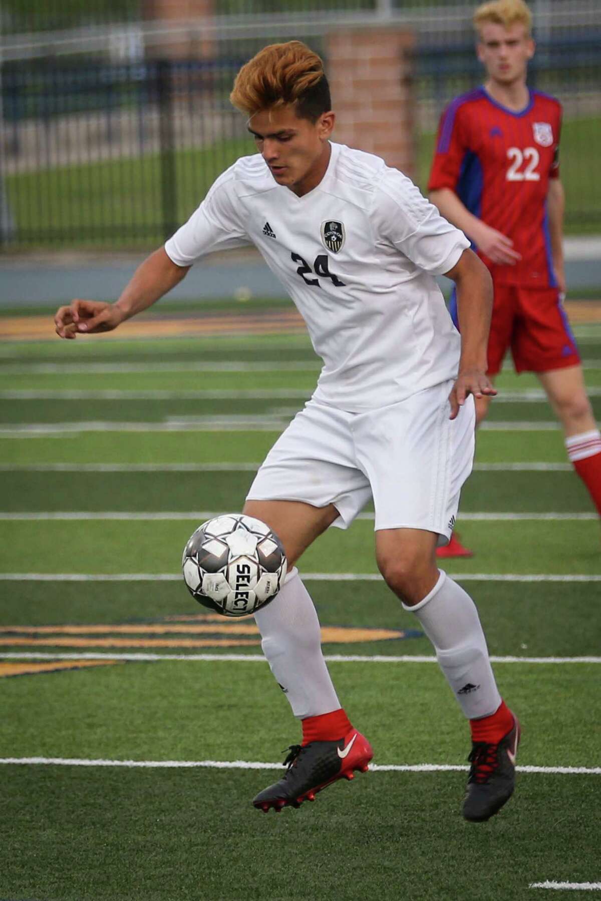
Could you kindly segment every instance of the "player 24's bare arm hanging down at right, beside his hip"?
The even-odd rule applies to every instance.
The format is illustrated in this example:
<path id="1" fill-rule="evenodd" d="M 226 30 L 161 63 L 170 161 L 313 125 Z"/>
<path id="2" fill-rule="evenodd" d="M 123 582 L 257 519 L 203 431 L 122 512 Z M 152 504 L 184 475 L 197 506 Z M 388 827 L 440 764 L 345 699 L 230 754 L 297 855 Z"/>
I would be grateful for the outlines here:
<path id="1" fill-rule="evenodd" d="M 457 287 L 461 356 L 459 374 L 451 390 L 451 419 L 470 394 L 494 396 L 487 377 L 487 344 L 493 308 L 493 282 L 487 267 L 473 250 L 464 250 L 455 266 L 444 273 Z"/>

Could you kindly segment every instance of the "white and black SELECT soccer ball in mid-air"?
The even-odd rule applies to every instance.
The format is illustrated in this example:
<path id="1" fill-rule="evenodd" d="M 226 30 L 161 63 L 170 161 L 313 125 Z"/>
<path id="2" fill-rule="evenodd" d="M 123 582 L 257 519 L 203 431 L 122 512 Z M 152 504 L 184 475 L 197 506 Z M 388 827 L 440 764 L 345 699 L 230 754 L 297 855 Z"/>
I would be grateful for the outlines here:
<path id="1" fill-rule="evenodd" d="M 278 594 L 286 578 L 282 542 L 269 525 L 225 514 L 200 525 L 182 558 L 184 581 L 199 604 L 223 616 L 254 613 Z"/>

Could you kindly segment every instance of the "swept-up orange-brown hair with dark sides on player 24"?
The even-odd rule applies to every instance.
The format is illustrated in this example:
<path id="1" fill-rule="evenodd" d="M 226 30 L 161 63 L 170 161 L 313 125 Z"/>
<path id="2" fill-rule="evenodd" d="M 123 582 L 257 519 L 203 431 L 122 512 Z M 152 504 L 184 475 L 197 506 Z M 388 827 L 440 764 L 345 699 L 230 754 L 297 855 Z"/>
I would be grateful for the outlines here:
<path id="1" fill-rule="evenodd" d="M 269 44 L 242 66 L 233 83 L 232 105 L 249 116 L 293 104 L 299 119 L 316 122 L 332 109 L 322 59 L 302 41 Z"/>

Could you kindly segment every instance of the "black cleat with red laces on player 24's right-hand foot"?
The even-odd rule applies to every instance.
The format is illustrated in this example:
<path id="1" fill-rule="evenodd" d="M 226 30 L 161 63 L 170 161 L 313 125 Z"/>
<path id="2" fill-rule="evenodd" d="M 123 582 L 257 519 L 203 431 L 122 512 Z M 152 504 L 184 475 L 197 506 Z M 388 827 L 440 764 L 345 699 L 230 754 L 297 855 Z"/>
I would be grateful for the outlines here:
<path id="1" fill-rule="evenodd" d="M 520 724 L 514 716 L 514 728 L 498 744 L 473 742 L 469 754 L 468 790 L 463 815 L 472 823 L 494 816 L 514 794 L 515 755 L 520 743 Z"/>

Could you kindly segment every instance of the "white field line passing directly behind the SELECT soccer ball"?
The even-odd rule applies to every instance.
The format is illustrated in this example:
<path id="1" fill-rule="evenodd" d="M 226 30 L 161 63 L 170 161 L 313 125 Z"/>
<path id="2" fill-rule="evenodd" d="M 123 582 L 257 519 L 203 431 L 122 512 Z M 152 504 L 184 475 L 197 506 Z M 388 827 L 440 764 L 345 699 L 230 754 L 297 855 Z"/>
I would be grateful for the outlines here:
<path id="1" fill-rule="evenodd" d="M 448 573 L 457 582 L 601 582 L 601 575 L 574 574 L 549 575 L 548 573 Z M 380 582 L 377 572 L 304 572 L 305 581 L 314 582 Z M 120 573 L 54 573 L 54 572 L 3 572 L 0 582 L 179 582 L 181 575 L 175 572 L 120 572 Z"/>

